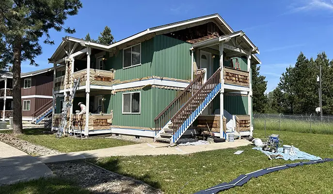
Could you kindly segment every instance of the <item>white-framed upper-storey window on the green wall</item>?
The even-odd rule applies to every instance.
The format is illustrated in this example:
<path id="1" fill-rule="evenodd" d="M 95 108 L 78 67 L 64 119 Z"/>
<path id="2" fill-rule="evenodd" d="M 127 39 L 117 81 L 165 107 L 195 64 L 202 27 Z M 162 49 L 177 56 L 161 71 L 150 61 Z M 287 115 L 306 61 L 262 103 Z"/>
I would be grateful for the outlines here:
<path id="1" fill-rule="evenodd" d="M 141 65 L 141 43 L 123 50 L 123 68 Z"/>

